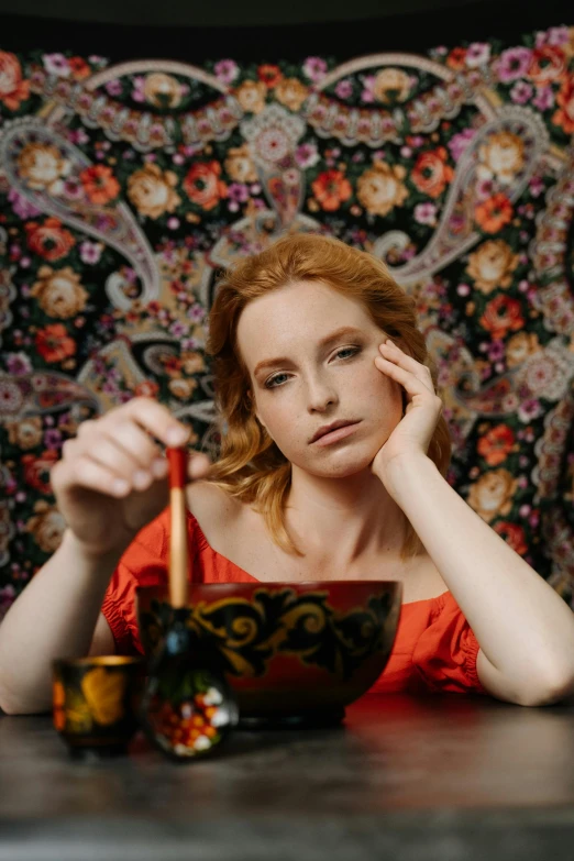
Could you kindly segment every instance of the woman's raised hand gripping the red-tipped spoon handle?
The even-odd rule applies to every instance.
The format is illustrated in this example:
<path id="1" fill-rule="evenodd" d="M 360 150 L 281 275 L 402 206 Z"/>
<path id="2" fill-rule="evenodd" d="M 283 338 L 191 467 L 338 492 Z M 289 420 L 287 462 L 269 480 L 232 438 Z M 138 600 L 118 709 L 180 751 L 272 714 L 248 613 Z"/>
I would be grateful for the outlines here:
<path id="1" fill-rule="evenodd" d="M 159 445 L 185 445 L 189 430 L 151 398 L 133 398 L 99 419 L 84 421 L 52 468 L 58 509 L 90 556 L 117 551 L 169 501 L 168 464 Z M 190 481 L 205 477 L 210 461 L 190 452 Z"/>

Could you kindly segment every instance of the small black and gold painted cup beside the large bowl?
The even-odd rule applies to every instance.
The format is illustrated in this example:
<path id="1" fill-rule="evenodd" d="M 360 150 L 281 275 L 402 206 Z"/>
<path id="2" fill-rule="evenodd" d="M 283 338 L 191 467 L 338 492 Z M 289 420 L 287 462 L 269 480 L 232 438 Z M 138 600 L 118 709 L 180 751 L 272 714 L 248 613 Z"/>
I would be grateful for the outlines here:
<path id="1" fill-rule="evenodd" d="M 53 662 L 54 727 L 74 757 L 126 753 L 139 729 L 141 658 L 97 655 Z"/>

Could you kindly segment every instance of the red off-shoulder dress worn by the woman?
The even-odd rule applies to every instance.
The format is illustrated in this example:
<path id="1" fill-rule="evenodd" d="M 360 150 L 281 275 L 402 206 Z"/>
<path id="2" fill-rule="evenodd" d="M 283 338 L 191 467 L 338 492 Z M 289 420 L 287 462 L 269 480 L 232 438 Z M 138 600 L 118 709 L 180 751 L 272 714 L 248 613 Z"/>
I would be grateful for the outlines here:
<path id="1" fill-rule="evenodd" d="M 188 512 L 190 578 L 196 583 L 256 583 L 213 550 Z M 139 532 L 115 569 L 102 604 L 119 654 L 143 651 L 135 588 L 167 583 L 169 509 Z M 387 666 L 369 693 L 487 694 L 476 673 L 478 641 L 450 592 L 404 604 Z"/>

